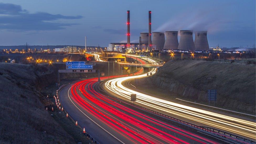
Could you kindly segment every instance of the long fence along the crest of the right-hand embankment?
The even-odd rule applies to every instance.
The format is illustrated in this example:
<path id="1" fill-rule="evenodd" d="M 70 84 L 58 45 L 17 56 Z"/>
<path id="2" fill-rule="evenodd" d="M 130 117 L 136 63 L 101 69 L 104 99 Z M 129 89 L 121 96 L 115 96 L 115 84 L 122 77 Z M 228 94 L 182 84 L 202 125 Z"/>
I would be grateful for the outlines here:
<path id="1" fill-rule="evenodd" d="M 242 60 L 227 60 L 227 59 L 209 59 L 209 58 L 184 58 L 178 60 L 203 60 L 203 61 L 212 61 L 212 62 L 223 62 L 223 63 L 237 63 L 244 65 L 255 65 L 254 61 L 242 61 Z"/>

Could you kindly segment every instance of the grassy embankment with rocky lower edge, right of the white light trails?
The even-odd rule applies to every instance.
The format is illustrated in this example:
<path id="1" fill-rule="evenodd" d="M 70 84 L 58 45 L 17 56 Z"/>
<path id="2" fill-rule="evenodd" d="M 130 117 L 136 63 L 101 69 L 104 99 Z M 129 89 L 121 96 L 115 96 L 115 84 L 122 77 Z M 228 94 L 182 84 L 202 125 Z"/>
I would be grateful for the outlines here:
<path id="1" fill-rule="evenodd" d="M 255 66 L 207 61 L 170 61 L 149 80 L 180 98 L 207 102 L 217 90 L 217 106 L 255 114 Z"/>

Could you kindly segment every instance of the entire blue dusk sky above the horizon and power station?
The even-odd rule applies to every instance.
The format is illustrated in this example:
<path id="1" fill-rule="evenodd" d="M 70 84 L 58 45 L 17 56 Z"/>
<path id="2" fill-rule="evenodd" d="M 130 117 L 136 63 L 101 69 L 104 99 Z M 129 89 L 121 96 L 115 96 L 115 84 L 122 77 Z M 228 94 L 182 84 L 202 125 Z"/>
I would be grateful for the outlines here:
<path id="1" fill-rule="evenodd" d="M 131 42 L 148 32 L 208 30 L 209 46 L 255 44 L 255 0 L 64 1 L 1 0 L 0 45 L 84 45 L 126 42 L 130 10 Z M 179 39 L 179 38 L 178 38 Z"/>

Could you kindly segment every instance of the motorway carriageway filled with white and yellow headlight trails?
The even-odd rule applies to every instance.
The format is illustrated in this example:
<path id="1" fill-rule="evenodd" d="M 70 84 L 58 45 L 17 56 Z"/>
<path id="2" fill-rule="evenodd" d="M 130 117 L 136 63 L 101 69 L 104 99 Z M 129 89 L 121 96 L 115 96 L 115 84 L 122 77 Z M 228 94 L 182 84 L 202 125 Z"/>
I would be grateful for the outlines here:
<path id="1" fill-rule="evenodd" d="M 154 60 L 151 61 L 153 63 L 155 62 Z M 152 68 L 150 72 L 154 74 L 156 69 Z M 115 78 L 106 81 L 103 86 L 108 93 L 125 100 L 129 100 L 131 94 L 136 94 L 136 104 L 148 107 L 150 109 L 157 109 L 159 112 L 166 112 L 167 114 L 169 113 L 176 115 L 184 118 L 184 120 L 195 121 L 210 127 L 215 127 L 220 130 L 225 130 L 227 132 L 255 140 L 255 122 L 173 103 L 137 92 L 123 85 L 126 81 L 130 81 L 131 79 L 142 78 L 146 76 L 146 74 L 141 74 L 138 76 Z"/>

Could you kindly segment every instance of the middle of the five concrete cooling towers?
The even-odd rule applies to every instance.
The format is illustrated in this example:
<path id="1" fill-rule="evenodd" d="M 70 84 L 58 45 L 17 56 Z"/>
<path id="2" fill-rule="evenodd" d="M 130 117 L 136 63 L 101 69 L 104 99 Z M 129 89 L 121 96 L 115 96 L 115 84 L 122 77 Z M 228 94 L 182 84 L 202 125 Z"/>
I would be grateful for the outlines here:
<path id="1" fill-rule="evenodd" d="M 165 38 L 164 49 L 178 49 L 178 31 L 166 31 Z"/>

